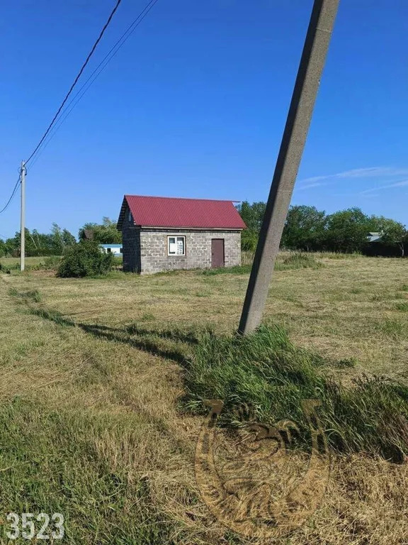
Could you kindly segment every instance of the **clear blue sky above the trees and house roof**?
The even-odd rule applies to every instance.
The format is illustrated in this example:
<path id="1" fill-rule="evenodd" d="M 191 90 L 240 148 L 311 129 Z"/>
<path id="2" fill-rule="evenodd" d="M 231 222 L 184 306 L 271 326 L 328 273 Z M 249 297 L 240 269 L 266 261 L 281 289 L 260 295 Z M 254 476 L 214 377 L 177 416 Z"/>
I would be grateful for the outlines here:
<path id="1" fill-rule="evenodd" d="M 113 4 L 4 2 L 0 208 Z M 145 4 L 122 1 L 85 76 Z M 266 200 L 311 9 L 159 0 L 28 168 L 27 226 L 77 234 L 125 193 Z M 407 31 L 403 0 L 341 0 L 293 204 L 408 224 Z"/>

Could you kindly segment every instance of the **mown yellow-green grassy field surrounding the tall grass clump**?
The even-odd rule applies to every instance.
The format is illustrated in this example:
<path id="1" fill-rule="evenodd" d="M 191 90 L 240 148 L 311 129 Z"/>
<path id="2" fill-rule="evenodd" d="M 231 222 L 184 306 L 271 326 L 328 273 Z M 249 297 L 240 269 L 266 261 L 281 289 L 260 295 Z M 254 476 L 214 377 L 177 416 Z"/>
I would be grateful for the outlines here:
<path id="1" fill-rule="evenodd" d="M 205 331 L 237 327 L 247 270 L 1 275 L 1 521 L 61 512 L 75 545 L 247 542 L 200 499 L 202 417 L 181 406 Z M 280 255 L 265 323 L 344 387 L 363 375 L 407 385 L 407 272 L 408 260 Z M 407 544 L 407 490 L 407 463 L 334 453 L 322 505 L 276 543 Z"/>

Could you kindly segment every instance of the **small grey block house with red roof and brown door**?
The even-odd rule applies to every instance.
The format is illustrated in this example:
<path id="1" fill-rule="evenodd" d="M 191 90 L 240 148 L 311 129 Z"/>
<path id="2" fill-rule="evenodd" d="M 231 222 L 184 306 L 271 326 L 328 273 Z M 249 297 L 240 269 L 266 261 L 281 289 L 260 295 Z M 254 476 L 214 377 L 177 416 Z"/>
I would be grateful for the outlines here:
<path id="1" fill-rule="evenodd" d="M 234 201 L 125 195 L 123 270 L 151 273 L 241 264 L 244 221 Z"/>

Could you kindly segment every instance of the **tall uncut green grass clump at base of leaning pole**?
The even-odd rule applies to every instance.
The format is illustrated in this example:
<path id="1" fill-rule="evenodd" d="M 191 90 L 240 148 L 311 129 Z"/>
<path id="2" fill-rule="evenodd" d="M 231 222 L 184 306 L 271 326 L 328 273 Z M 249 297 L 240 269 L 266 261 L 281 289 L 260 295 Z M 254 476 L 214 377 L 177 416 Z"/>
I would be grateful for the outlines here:
<path id="1" fill-rule="evenodd" d="M 185 407 L 225 402 L 222 422 L 250 409 L 265 424 L 293 419 L 299 443 L 310 432 L 301 401 L 320 400 L 319 416 L 335 451 L 364 451 L 400 461 L 408 453 L 408 387 L 385 378 L 359 378 L 346 388 L 329 378 L 323 358 L 296 348 L 285 331 L 263 326 L 249 336 L 204 334 L 186 368 Z"/>

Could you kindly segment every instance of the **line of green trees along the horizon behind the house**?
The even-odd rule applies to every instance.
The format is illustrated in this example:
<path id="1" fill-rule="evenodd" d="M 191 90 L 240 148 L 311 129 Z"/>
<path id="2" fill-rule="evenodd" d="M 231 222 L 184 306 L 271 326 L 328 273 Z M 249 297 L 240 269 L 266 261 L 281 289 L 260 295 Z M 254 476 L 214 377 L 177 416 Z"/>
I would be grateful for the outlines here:
<path id="1" fill-rule="evenodd" d="M 237 209 L 246 224 L 242 231 L 242 250 L 255 251 L 259 231 L 265 214 L 265 202 L 244 201 Z M 380 233 L 379 243 L 369 243 L 369 233 Z M 122 233 L 116 222 L 103 217 L 101 224 L 86 223 L 79 229 L 79 241 L 91 238 L 101 244 L 122 243 Z M 26 255 L 62 255 L 65 249 L 77 243 L 77 238 L 67 229 L 53 223 L 50 233 L 26 229 Z M 375 246 L 374 246 L 375 244 Z M 408 251 L 407 228 L 385 216 L 364 214 L 357 207 L 326 214 L 316 207 L 296 205 L 290 207 L 285 221 L 281 248 L 297 251 L 334 251 L 343 253 L 369 253 L 402 255 Z M 0 257 L 20 255 L 20 233 L 0 239 Z"/>

